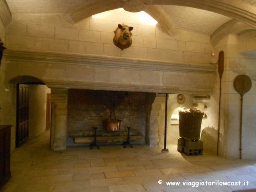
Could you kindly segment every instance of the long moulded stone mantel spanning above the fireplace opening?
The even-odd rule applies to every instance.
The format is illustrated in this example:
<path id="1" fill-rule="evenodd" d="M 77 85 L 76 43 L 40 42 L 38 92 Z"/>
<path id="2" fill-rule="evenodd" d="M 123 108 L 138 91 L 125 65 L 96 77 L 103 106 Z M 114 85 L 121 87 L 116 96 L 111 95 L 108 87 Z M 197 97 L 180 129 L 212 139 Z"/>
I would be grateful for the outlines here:
<path id="1" fill-rule="evenodd" d="M 11 50 L 4 53 L 6 81 L 33 76 L 49 88 L 204 93 L 216 66 L 97 55 Z"/>

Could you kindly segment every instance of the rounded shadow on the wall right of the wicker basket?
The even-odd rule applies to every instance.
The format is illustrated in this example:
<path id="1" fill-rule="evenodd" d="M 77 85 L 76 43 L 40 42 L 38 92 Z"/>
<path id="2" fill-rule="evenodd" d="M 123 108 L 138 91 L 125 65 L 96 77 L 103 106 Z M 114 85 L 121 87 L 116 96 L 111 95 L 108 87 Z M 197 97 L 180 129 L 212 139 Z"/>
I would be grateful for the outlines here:
<path id="1" fill-rule="evenodd" d="M 205 127 L 201 133 L 201 140 L 204 142 L 204 148 L 212 153 L 216 153 L 218 132 L 212 127 Z"/>

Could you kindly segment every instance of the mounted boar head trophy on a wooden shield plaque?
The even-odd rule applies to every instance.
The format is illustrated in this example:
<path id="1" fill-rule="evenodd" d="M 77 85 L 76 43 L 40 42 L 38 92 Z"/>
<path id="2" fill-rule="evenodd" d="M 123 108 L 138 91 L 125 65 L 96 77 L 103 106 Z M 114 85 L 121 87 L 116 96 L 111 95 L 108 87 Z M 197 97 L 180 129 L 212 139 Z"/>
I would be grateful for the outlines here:
<path id="1" fill-rule="evenodd" d="M 115 36 L 113 42 L 121 50 L 129 48 L 132 45 L 132 30 L 133 27 L 118 24 L 118 27 L 114 31 Z"/>

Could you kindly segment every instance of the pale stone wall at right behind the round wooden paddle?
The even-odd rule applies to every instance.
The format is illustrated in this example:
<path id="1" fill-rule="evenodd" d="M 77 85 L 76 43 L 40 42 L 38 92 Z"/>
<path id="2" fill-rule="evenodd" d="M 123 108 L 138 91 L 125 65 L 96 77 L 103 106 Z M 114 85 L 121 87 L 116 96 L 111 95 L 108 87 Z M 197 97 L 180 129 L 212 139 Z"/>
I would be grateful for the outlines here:
<path id="1" fill-rule="evenodd" d="M 234 90 L 233 80 L 240 74 L 248 75 L 252 80 L 252 87 L 243 97 L 243 124 L 242 124 L 242 158 L 255 159 L 255 33 L 243 35 L 228 35 L 217 46 L 216 52 L 225 53 L 224 73 L 222 78 L 221 124 L 220 124 L 220 154 L 228 158 L 239 158 L 240 132 L 240 95 Z M 253 46 L 252 46 L 253 45 Z M 247 53 L 243 52 L 247 50 Z M 240 52 L 242 51 L 242 52 Z M 214 102 L 218 104 L 219 78 L 212 94 Z M 218 126 L 217 119 L 212 124 Z"/>

